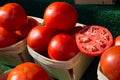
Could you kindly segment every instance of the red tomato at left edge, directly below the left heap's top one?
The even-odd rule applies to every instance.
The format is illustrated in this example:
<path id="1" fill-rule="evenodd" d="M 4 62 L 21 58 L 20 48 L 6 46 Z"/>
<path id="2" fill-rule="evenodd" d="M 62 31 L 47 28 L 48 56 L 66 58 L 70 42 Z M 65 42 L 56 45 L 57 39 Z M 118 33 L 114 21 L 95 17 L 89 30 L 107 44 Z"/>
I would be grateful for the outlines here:
<path id="1" fill-rule="evenodd" d="M 3 27 L 0 27 L 0 48 L 10 46 L 18 42 L 18 36 L 15 33 L 9 32 Z"/>

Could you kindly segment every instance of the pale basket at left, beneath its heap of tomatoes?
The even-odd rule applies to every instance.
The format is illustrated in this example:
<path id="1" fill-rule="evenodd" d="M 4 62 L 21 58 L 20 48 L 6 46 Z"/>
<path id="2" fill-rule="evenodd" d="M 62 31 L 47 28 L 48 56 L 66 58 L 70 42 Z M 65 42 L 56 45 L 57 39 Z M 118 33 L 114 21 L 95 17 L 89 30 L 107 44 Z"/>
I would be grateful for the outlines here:
<path id="1" fill-rule="evenodd" d="M 26 39 L 24 39 L 11 46 L 0 48 L 0 64 L 16 66 L 26 61 L 32 61 L 26 44 Z"/>

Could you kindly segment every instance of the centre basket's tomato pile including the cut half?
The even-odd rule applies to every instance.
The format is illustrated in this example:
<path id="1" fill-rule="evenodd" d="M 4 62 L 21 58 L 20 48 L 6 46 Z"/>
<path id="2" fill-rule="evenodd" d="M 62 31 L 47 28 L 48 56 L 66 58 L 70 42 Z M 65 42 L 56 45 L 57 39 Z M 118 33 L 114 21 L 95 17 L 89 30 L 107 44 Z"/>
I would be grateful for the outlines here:
<path id="1" fill-rule="evenodd" d="M 79 51 L 88 56 L 100 56 L 111 47 L 113 37 L 105 27 L 76 26 L 78 13 L 66 2 L 53 2 L 43 15 L 44 25 L 34 27 L 27 44 L 36 52 L 55 60 L 65 61 Z"/>

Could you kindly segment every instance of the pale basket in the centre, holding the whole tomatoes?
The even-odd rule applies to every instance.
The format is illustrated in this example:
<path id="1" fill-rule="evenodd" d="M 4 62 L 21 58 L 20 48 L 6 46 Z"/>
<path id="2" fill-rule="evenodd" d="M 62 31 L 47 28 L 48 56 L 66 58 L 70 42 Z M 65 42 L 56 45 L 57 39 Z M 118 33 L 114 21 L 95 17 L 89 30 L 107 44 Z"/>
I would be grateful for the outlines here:
<path id="1" fill-rule="evenodd" d="M 78 53 L 68 61 L 57 61 L 40 55 L 29 46 L 27 48 L 35 63 L 41 65 L 53 78 L 58 80 L 80 80 L 93 60 L 93 57 Z"/>

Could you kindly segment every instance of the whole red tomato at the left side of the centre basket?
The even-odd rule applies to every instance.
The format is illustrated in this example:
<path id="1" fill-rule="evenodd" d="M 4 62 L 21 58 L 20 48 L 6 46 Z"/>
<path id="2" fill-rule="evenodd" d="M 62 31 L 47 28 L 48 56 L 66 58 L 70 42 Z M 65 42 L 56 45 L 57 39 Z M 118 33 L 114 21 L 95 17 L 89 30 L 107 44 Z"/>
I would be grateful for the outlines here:
<path id="1" fill-rule="evenodd" d="M 50 39 L 54 36 L 51 29 L 38 25 L 34 27 L 28 34 L 27 44 L 37 52 L 47 50 Z"/>

